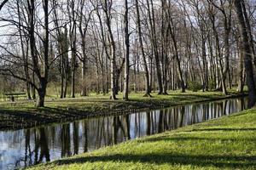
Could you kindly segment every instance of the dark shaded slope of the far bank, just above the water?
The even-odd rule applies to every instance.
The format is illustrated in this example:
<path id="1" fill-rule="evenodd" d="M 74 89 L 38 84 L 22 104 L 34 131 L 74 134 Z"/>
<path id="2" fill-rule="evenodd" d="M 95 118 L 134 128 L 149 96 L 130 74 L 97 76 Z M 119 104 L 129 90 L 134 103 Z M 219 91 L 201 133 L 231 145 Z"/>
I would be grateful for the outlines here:
<path id="1" fill-rule="evenodd" d="M 134 112 L 139 111 L 151 111 L 151 110 L 158 110 L 163 108 L 168 108 L 172 106 L 178 106 L 178 105 L 189 105 L 189 104 L 198 104 L 198 103 L 204 103 L 204 102 L 211 102 L 211 101 L 217 101 L 222 99 L 235 99 L 240 97 L 247 96 L 247 93 L 243 94 L 228 94 L 223 96 L 214 96 L 213 98 L 207 99 L 207 93 L 205 96 L 206 99 L 192 99 L 192 100 L 184 100 L 179 101 L 177 103 L 173 103 L 171 101 L 163 101 L 159 102 L 157 99 L 149 99 L 147 101 L 121 101 L 122 105 L 124 105 L 121 109 L 109 109 L 109 108 L 102 108 L 101 111 L 84 111 L 80 108 L 75 107 L 68 107 L 68 108 L 61 108 L 61 107 L 44 107 L 44 108 L 32 108 L 26 110 L 17 110 L 14 109 L 1 109 L 0 108 L 0 114 L 8 114 L 10 116 L 16 116 L 14 120 L 10 122 L 4 122 L 4 120 L 1 120 L 0 118 L 0 130 L 1 131 L 7 131 L 7 130 L 18 130 L 21 128 L 31 128 L 31 127 L 42 127 L 45 125 L 53 125 L 55 123 L 65 123 L 65 122 L 73 122 L 73 121 L 79 121 L 86 118 L 92 118 L 92 117 L 99 117 L 99 116 L 121 116 L 126 114 L 131 114 Z M 65 101 L 63 101 L 65 102 Z M 101 105 L 104 101 L 99 101 L 98 104 Z M 134 102 L 136 102 L 136 105 Z M 127 108 L 129 106 L 129 108 Z M 55 114 L 51 114 L 54 112 Z M 20 115 L 19 113 L 22 113 Z M 40 114 L 38 114 L 40 113 Z M 58 115 L 58 116 L 55 116 Z M 43 116 L 43 117 L 42 117 Z M 49 117 L 44 117 L 49 116 Z"/>

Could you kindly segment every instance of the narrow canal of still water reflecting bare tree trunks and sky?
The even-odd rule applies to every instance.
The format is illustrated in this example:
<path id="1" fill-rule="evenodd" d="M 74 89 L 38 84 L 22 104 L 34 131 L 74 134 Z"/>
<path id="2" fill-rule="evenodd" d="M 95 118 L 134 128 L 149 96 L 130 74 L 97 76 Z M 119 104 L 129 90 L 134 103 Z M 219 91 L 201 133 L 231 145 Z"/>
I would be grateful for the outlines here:
<path id="1" fill-rule="evenodd" d="M 0 169 L 28 167 L 247 109 L 247 98 L 0 131 Z"/>

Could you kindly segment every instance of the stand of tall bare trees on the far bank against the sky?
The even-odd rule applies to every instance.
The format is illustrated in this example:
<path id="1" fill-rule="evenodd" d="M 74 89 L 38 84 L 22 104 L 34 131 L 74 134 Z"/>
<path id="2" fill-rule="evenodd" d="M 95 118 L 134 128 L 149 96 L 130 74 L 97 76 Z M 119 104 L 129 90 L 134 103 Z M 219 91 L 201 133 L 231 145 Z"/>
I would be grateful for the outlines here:
<path id="1" fill-rule="evenodd" d="M 44 106 L 49 82 L 61 98 L 91 90 L 167 94 L 247 78 L 255 100 L 255 4 L 241 0 L 5 0 L 0 5 L 0 73 L 26 82 Z M 131 83 L 132 82 L 132 83 Z M 190 83 L 189 83 L 190 82 Z M 143 84 L 143 86 L 142 86 Z"/>

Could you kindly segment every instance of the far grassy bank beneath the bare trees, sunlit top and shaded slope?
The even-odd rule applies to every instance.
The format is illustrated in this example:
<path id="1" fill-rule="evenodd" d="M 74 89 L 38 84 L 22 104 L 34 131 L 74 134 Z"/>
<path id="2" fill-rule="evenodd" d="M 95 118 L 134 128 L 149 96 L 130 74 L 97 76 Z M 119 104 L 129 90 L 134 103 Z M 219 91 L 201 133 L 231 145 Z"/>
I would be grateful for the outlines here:
<path id="1" fill-rule="evenodd" d="M 143 94 L 131 94 L 129 101 L 123 101 L 121 94 L 118 100 L 109 96 L 90 96 L 78 99 L 47 99 L 44 108 L 36 108 L 34 101 L 17 101 L 0 103 L 0 129 L 34 127 L 45 123 L 67 122 L 88 116 L 124 114 L 126 112 L 158 109 L 172 105 L 211 101 L 236 97 L 236 91 L 229 95 L 220 92 L 170 92 L 169 95 L 152 94 L 153 98 L 144 98 Z"/>

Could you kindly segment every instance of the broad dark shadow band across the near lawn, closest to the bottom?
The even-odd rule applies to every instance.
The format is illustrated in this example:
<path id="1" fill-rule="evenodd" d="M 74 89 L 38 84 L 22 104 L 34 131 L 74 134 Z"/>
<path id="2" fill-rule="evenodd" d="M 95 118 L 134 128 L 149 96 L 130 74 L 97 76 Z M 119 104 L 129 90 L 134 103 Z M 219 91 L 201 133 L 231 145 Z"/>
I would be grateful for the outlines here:
<path id="1" fill-rule="evenodd" d="M 73 163 L 96 161 L 125 161 L 125 162 L 142 162 L 154 164 L 170 165 L 192 165 L 192 166 L 214 166 L 214 167 L 256 167 L 255 156 L 204 156 L 204 155 L 186 155 L 186 154 L 142 154 L 142 155 L 125 155 L 117 154 L 110 156 L 86 156 L 55 161 L 58 165 L 68 165 Z"/>

